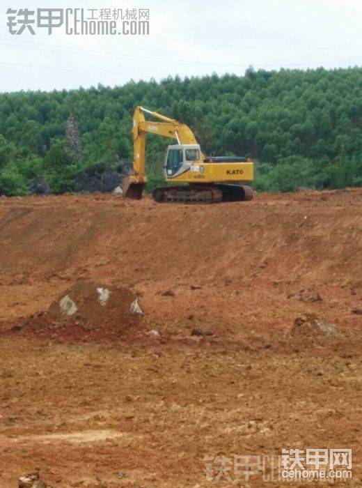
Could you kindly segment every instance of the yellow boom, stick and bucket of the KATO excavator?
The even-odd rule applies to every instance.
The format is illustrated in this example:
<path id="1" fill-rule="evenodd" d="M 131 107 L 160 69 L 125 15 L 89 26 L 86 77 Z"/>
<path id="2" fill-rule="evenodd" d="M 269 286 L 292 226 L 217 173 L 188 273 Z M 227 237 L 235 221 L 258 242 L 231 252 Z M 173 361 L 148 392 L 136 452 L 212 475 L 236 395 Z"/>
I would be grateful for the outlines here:
<path id="1" fill-rule="evenodd" d="M 144 114 L 150 114 L 159 121 L 146 121 Z M 151 112 L 143 107 L 136 107 L 133 114 L 132 138 L 134 146 L 133 174 L 123 181 L 125 197 L 141 199 L 147 183 L 145 176 L 145 135 L 146 133 L 176 139 L 178 144 L 197 144 L 194 132 L 185 125 L 168 117 Z M 201 155 L 202 157 L 203 154 Z"/>

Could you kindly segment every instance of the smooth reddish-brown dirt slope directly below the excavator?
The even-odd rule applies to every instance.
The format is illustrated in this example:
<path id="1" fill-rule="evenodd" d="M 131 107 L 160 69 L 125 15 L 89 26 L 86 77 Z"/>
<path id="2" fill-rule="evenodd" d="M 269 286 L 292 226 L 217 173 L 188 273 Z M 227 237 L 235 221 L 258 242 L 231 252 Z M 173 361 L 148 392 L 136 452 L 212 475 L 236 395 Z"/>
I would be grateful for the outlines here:
<path id="1" fill-rule="evenodd" d="M 84 268 L 97 274 L 106 266 L 136 282 L 205 272 L 210 281 L 260 274 L 264 266 L 262 275 L 274 280 L 340 280 L 346 272 L 347 280 L 358 279 L 361 207 L 359 190 L 219 206 L 157 206 L 102 195 L 6 199 L 0 232 L 8 259 L 1 273 L 49 277 Z"/>

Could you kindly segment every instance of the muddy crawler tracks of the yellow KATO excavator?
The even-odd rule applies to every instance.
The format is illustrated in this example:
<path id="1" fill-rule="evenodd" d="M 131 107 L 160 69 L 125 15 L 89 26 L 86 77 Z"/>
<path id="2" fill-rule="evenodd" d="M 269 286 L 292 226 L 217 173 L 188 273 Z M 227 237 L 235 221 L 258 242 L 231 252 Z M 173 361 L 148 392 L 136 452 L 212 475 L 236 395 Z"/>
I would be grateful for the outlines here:
<path id="1" fill-rule="evenodd" d="M 162 204 L 217 204 L 220 201 L 251 200 L 253 190 L 240 185 L 180 185 L 156 188 L 152 197 Z"/>

